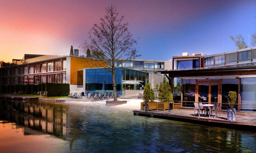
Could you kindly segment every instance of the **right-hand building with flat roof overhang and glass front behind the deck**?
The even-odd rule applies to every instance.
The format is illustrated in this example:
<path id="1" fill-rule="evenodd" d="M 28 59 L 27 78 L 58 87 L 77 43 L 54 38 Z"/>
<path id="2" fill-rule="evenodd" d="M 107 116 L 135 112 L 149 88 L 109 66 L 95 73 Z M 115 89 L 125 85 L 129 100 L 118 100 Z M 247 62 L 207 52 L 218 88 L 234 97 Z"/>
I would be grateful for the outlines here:
<path id="1" fill-rule="evenodd" d="M 184 55 L 185 54 L 185 55 Z M 173 57 L 172 70 L 162 71 L 173 88 L 175 106 L 194 109 L 193 102 L 222 103 L 237 93 L 237 111 L 256 111 L 256 47 L 202 56 Z"/>

